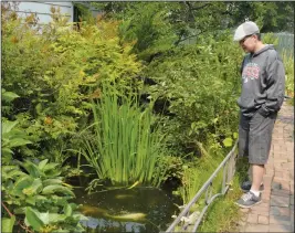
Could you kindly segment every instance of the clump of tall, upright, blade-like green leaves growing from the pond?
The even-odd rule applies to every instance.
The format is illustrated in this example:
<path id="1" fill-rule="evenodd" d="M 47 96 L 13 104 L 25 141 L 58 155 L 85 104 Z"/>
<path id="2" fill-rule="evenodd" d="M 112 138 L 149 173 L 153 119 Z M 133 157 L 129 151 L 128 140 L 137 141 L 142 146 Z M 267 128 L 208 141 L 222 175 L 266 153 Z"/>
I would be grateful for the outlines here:
<path id="1" fill-rule="evenodd" d="M 152 116 L 152 104 L 140 107 L 135 95 L 119 95 L 114 87 L 104 86 L 93 114 L 94 135 L 84 140 L 82 150 L 98 178 L 113 184 L 158 187 L 161 178 L 156 165 L 165 136 Z"/>

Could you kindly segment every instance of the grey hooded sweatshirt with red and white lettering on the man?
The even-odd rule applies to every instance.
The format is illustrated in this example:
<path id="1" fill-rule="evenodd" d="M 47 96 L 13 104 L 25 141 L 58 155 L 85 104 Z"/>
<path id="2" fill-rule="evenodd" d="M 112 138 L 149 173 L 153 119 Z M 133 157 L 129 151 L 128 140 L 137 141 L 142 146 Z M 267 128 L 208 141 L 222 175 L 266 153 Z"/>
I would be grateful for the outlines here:
<path id="1" fill-rule="evenodd" d="M 242 67 L 242 93 L 238 105 L 244 116 L 254 113 L 268 116 L 280 110 L 285 93 L 285 70 L 274 46 L 266 44 L 256 53 L 244 56 Z"/>

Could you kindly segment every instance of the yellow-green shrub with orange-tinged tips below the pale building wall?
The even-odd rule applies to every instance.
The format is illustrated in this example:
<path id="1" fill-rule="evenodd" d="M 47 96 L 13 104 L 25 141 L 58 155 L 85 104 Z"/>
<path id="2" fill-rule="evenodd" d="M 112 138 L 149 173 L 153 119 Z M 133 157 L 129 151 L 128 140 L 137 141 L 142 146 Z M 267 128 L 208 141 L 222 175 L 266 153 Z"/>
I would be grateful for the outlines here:
<path id="1" fill-rule="evenodd" d="M 80 23 L 74 30 L 52 9 L 53 22 L 41 29 L 2 6 L 2 87 L 19 97 L 3 116 L 18 120 L 33 145 L 21 156 L 54 157 L 64 162 L 73 136 L 87 124 L 102 80 L 136 86 L 140 63 L 131 45 L 119 42 L 115 21 Z M 41 153 L 41 155 L 40 155 Z"/>

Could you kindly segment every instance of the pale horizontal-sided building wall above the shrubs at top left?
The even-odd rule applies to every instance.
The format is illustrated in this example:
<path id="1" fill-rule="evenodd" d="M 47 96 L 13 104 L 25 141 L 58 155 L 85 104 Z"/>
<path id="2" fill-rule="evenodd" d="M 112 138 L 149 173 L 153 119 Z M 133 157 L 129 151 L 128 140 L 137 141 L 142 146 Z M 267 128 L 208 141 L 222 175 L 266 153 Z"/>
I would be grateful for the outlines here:
<path id="1" fill-rule="evenodd" d="M 62 14 L 66 14 L 69 22 L 73 22 L 74 7 L 71 1 L 66 2 L 19 2 L 17 12 L 19 15 L 36 13 L 40 24 L 51 22 L 51 7 L 61 9 Z"/>

